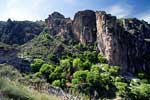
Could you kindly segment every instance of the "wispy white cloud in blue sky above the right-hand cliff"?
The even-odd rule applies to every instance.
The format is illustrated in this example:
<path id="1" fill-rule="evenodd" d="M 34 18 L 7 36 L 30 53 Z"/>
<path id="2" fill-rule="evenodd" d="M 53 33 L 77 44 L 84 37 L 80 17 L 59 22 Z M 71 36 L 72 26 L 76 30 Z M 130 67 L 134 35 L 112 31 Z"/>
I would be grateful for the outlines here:
<path id="1" fill-rule="evenodd" d="M 106 11 L 114 16 L 117 16 L 118 18 L 122 18 L 128 17 L 131 14 L 132 7 L 127 4 L 123 6 L 117 4 L 106 8 Z"/>

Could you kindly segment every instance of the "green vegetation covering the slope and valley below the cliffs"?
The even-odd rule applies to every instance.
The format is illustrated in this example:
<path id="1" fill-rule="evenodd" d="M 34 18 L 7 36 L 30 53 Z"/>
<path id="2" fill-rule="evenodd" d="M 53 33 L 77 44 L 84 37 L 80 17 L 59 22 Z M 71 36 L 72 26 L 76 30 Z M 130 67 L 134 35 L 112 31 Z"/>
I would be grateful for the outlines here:
<path id="1" fill-rule="evenodd" d="M 32 62 L 32 72 L 26 74 L 18 74 L 7 65 L 3 65 L 5 68 L 0 66 L 0 93 L 6 93 L 6 98 L 49 100 L 47 94 L 37 97 L 34 94 L 39 92 L 26 87 L 37 81 L 43 83 L 44 78 L 48 84 L 85 100 L 116 97 L 150 100 L 150 77 L 145 73 L 137 73 L 133 78 L 124 77 L 119 66 L 109 65 L 97 51 L 96 43 L 80 44 L 68 34 L 51 36 L 47 32 L 45 28 L 21 46 L 0 45 L 7 52 L 12 47 L 19 49 L 16 55 Z M 44 85 L 46 82 L 44 80 Z"/>

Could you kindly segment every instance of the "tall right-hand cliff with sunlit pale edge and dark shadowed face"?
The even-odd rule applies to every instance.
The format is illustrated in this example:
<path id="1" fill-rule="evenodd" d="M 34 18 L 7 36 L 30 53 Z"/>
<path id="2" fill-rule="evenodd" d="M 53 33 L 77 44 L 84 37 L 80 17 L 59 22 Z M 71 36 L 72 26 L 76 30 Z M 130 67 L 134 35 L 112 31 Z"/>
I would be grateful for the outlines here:
<path id="1" fill-rule="evenodd" d="M 133 19 L 117 20 L 105 12 L 96 12 L 97 42 L 110 64 L 122 71 L 141 72 L 150 69 L 150 25 Z"/>

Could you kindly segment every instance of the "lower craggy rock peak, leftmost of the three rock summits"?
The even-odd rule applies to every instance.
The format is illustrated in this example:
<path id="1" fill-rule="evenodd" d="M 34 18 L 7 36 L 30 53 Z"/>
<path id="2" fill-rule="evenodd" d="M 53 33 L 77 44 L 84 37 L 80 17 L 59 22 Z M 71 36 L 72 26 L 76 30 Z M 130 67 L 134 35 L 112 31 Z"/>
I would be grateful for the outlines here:
<path id="1" fill-rule="evenodd" d="M 50 28 L 50 34 L 52 35 L 72 33 L 72 20 L 65 18 L 58 12 L 49 15 L 49 17 L 45 19 L 45 22 L 48 28 Z"/>

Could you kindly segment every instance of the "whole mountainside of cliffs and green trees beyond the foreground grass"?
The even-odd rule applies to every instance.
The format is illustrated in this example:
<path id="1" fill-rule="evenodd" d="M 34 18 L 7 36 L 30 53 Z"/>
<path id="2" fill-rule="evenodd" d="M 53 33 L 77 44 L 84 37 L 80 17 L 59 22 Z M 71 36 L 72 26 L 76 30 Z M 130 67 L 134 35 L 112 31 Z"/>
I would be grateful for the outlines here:
<path id="1" fill-rule="evenodd" d="M 4 72 L 8 65 L 20 71 L 17 79 L 28 77 L 23 83 L 44 79 L 44 86 L 60 87 L 78 99 L 150 100 L 149 38 L 147 22 L 117 19 L 104 11 L 79 11 L 73 20 L 59 12 L 45 21 L 9 19 L 0 22 L 0 63 L 6 66 L 2 67 Z M 6 78 L 13 74 L 6 75 L 0 84 L 7 83 Z M 17 84 L 19 87 L 10 87 L 25 85 Z"/>

